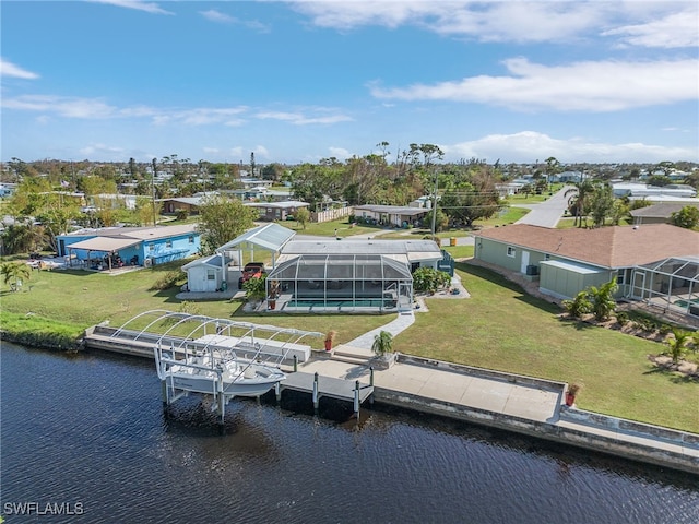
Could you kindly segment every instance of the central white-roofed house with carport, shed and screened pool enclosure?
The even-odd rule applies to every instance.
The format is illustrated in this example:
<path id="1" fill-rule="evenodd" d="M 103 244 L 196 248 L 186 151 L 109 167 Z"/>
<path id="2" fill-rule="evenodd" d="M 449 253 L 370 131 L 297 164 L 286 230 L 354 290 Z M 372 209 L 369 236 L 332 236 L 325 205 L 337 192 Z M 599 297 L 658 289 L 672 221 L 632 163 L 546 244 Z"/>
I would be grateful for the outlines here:
<path id="1" fill-rule="evenodd" d="M 216 254 L 183 265 L 188 290 L 235 286 L 245 263 L 271 255 L 269 309 L 400 311 L 412 309 L 413 272 L 443 267 L 445 253 L 433 240 L 295 240 L 294 236 L 295 231 L 279 224 L 250 229 L 220 247 Z"/>

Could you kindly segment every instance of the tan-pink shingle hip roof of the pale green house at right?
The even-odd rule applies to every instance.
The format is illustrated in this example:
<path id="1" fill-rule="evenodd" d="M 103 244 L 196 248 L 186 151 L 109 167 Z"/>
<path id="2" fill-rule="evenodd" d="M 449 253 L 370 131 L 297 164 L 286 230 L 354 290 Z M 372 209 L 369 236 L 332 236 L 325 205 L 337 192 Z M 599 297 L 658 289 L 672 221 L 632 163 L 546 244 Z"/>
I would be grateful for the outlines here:
<path id="1" fill-rule="evenodd" d="M 550 229 L 516 224 L 485 229 L 475 237 L 603 267 L 630 267 L 699 253 L 699 233 L 670 224 L 596 229 Z"/>

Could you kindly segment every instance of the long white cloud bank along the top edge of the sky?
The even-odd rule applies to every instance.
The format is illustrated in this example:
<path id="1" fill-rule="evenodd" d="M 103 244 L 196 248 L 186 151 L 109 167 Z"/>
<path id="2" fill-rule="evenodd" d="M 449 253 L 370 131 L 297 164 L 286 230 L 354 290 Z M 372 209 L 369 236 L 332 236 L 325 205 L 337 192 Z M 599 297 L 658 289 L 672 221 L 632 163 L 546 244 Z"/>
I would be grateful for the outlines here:
<path id="1" fill-rule="evenodd" d="M 697 5 L 687 1 L 345 0 L 293 4 L 315 25 L 339 31 L 413 25 L 440 35 L 517 43 L 570 41 L 602 32 L 644 47 L 692 46 L 698 38 Z"/>

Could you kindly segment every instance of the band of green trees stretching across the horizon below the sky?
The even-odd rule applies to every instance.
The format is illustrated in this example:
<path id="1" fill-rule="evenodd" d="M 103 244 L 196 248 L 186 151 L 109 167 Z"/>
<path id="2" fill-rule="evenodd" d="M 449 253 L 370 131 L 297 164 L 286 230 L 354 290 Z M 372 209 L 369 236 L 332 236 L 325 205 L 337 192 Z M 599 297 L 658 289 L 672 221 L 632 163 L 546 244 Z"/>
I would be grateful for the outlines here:
<path id="1" fill-rule="evenodd" d="M 3 201 L 3 214 L 13 218 L 1 236 L 3 252 L 26 252 L 37 247 L 57 251 L 56 237 L 75 225 L 153 225 L 161 211 L 157 199 L 242 189 L 244 176 L 289 187 L 293 198 L 307 202 L 311 211 L 337 205 L 408 205 L 427 198 L 433 209 L 437 201 L 436 216 L 430 214 L 427 219 L 434 219 L 436 230 L 440 230 L 449 225 L 471 227 L 474 221 L 488 218 L 507 205 L 499 196 L 498 183 L 531 176 L 532 183 L 522 191 L 541 193 L 547 191 L 549 181 L 565 169 L 578 170 L 589 177 L 569 192 L 571 214 L 579 226 L 583 221 L 588 225 L 588 219 L 593 226 L 601 226 L 608 221 L 618 224 L 632 205 L 638 205 L 614 199 L 607 183 L 611 178 L 632 179 L 643 168 L 654 174 L 653 182 L 664 184 L 670 183 L 674 169 L 691 171 L 696 167 L 668 162 L 614 169 L 585 164 L 564 166 L 555 157 L 532 165 L 501 165 L 499 160 L 488 164 L 478 158 L 443 163 L 443 152 L 434 144 L 410 144 L 406 150 L 391 153 L 390 144 L 380 142 L 376 151 L 378 153 L 353 156 L 344 162 L 330 157 L 317 164 L 294 166 L 277 163 L 261 166 L 253 153 L 245 165 L 192 162 L 177 154 L 145 163 L 133 158 L 125 163 L 51 159 L 25 163 L 12 158 L 0 170 L 3 182 L 17 183 L 12 196 Z M 699 188 L 699 170 L 691 171 L 685 182 Z M 93 205 L 81 209 L 78 193 Z M 128 207 L 125 202 L 115 201 L 112 195 L 117 193 L 132 195 L 134 205 Z M 244 221 L 241 224 L 253 218 L 251 213 L 229 209 L 229 204 L 226 199 L 216 199 L 210 202 L 209 212 L 202 211 L 202 221 L 213 217 L 209 229 L 214 234 L 204 238 L 206 246 L 229 240 L 230 234 L 238 229 L 235 225 L 225 225 L 222 216 L 237 216 Z M 678 218 L 688 224 L 691 221 L 691 216 Z"/>

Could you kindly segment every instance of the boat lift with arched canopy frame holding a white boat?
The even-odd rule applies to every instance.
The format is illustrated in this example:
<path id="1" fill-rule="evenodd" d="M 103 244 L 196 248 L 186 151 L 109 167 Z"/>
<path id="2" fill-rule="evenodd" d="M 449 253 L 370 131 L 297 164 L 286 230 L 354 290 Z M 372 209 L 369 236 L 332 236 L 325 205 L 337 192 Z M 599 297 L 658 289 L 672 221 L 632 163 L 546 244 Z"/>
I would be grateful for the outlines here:
<path id="1" fill-rule="evenodd" d="M 149 322 L 149 315 L 155 319 Z M 140 332 L 131 329 L 144 320 L 146 324 Z M 311 331 L 165 310 L 141 313 L 112 336 L 128 335 L 134 342 L 153 340 L 153 331 L 163 327 L 166 329 L 153 344 L 163 407 L 167 409 L 190 393 L 212 395 L 212 410 L 216 410 L 220 425 L 232 398 L 259 397 L 275 388 L 286 379 L 280 369 L 283 362 L 308 359 L 310 346 L 300 342 L 323 336 Z"/>

